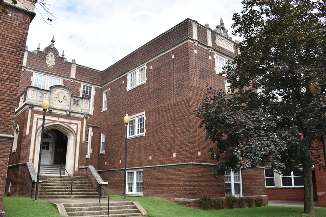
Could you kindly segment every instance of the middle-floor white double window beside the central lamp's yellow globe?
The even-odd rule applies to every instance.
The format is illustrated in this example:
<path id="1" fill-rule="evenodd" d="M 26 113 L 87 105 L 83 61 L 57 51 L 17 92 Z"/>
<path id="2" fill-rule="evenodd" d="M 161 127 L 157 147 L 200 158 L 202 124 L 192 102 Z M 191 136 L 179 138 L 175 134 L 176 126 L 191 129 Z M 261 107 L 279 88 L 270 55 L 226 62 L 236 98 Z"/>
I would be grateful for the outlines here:
<path id="1" fill-rule="evenodd" d="M 128 138 L 145 135 L 145 113 L 130 116 Z"/>

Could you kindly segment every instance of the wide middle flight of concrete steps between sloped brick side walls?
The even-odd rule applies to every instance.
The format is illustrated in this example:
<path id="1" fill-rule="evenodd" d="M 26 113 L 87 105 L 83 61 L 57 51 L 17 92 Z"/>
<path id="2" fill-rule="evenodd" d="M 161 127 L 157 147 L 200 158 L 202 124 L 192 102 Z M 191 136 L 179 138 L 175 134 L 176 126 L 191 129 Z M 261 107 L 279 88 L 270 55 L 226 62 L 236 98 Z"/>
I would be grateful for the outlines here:
<path id="1" fill-rule="evenodd" d="M 72 195 L 71 180 L 69 176 L 41 175 L 42 181 L 40 198 L 99 198 L 99 193 L 89 182 L 87 177 L 73 176 Z"/>

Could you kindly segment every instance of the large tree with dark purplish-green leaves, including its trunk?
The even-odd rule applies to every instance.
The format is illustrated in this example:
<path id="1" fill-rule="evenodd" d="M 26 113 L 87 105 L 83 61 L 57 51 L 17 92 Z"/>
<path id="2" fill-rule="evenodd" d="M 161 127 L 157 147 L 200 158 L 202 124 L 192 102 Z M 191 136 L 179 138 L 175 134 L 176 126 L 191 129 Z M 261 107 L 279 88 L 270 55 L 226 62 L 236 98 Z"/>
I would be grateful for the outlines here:
<path id="1" fill-rule="evenodd" d="M 303 170 L 304 212 L 314 213 L 313 165 L 326 128 L 326 5 L 324 0 L 243 0 L 233 15 L 243 41 L 224 67 L 230 90 L 208 87 L 195 114 L 226 170 L 271 166 Z"/>

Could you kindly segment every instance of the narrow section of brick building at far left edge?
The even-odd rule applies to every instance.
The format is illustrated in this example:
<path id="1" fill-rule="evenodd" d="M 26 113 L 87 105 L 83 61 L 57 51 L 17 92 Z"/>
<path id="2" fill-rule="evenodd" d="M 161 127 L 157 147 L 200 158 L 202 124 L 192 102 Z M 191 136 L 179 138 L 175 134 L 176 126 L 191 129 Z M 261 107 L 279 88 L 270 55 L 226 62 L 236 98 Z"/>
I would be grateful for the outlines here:
<path id="1" fill-rule="evenodd" d="M 0 212 L 3 210 L 8 157 L 14 138 L 13 120 L 27 32 L 35 16 L 31 2 L 21 1 L 17 5 L 10 2 L 5 0 L 3 3 L 9 7 L 8 14 L 0 13 Z"/>

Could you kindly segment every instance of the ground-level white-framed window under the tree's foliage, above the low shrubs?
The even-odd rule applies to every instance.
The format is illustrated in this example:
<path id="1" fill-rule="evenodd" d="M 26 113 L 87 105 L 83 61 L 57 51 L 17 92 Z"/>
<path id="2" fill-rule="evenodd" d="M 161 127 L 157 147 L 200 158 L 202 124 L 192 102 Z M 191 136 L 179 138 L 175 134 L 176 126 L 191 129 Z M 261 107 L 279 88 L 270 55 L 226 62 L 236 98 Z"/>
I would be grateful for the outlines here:
<path id="1" fill-rule="evenodd" d="M 241 170 L 225 171 L 224 189 L 225 196 L 242 196 Z"/>

